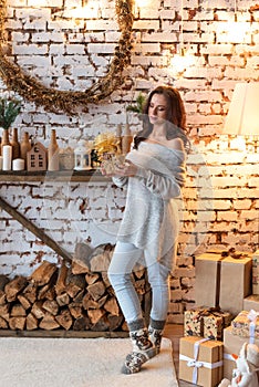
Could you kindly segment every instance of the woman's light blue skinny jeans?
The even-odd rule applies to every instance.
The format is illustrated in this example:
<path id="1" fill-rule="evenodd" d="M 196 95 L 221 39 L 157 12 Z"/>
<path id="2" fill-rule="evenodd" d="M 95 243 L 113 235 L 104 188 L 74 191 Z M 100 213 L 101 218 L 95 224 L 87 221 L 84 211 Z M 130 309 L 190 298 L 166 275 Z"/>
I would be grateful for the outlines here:
<path id="1" fill-rule="evenodd" d="M 169 304 L 169 270 L 148 259 L 145 251 L 132 243 L 117 242 L 108 268 L 108 280 L 115 291 L 118 304 L 127 324 L 143 318 L 137 292 L 132 282 L 132 271 L 136 262 L 144 255 L 148 282 L 152 287 L 151 317 L 165 321 Z M 148 264 L 148 261 L 152 263 Z M 154 263 L 155 261 L 155 263 Z"/>

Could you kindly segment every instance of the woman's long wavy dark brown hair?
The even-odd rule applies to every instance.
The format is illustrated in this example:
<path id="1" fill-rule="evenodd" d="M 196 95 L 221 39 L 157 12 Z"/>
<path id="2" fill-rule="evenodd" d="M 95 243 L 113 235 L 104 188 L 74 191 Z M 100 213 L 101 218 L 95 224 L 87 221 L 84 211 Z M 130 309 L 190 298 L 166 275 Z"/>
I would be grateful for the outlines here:
<path id="1" fill-rule="evenodd" d="M 149 93 L 143 108 L 143 129 L 138 132 L 134 138 L 134 149 L 137 149 L 141 142 L 144 142 L 146 138 L 148 138 L 149 134 L 153 130 L 153 125 L 148 118 L 148 108 L 154 94 L 163 94 L 167 101 L 166 138 L 173 139 L 179 137 L 184 142 L 185 148 L 188 149 L 189 139 L 186 135 L 186 113 L 184 102 L 180 97 L 179 92 L 172 86 L 158 86 Z"/>

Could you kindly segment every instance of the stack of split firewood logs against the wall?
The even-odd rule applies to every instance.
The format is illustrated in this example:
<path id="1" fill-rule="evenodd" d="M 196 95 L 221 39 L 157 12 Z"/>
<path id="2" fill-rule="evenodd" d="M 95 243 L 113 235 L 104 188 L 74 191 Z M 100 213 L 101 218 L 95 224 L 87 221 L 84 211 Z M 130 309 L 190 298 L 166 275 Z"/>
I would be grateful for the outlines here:
<path id="1" fill-rule="evenodd" d="M 79 243 L 72 263 L 43 261 L 28 278 L 0 275 L 0 328 L 126 331 L 107 279 L 113 249 Z M 145 308 L 144 268 L 134 271 L 133 281 Z"/>

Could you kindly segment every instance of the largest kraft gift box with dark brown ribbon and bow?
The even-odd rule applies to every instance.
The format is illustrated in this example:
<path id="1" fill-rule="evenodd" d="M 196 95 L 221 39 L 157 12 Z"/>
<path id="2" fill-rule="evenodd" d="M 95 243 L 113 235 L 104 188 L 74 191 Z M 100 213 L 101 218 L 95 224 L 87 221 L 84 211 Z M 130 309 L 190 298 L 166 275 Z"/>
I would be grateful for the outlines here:
<path id="1" fill-rule="evenodd" d="M 237 315 L 251 294 L 252 254 L 211 251 L 196 258 L 196 305 L 220 306 Z M 231 279 L 231 281 L 229 281 Z"/>

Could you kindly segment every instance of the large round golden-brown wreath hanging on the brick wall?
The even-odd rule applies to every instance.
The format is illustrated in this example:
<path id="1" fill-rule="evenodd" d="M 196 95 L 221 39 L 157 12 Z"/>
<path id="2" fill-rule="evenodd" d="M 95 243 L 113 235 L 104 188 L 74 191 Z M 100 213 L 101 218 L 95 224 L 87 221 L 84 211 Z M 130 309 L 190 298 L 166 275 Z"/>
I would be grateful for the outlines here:
<path id="1" fill-rule="evenodd" d="M 34 76 L 27 74 L 17 64 L 4 56 L 2 42 L 4 34 L 4 19 L 7 4 L 0 0 L 0 76 L 7 87 L 17 92 L 24 100 L 43 105 L 51 112 L 64 111 L 72 114 L 79 105 L 99 103 L 123 82 L 122 71 L 131 63 L 132 51 L 132 25 L 133 25 L 133 0 L 115 0 L 115 10 L 121 31 L 118 44 L 115 46 L 114 56 L 110 70 L 105 76 L 100 79 L 84 92 L 58 91 L 44 86 Z"/>

